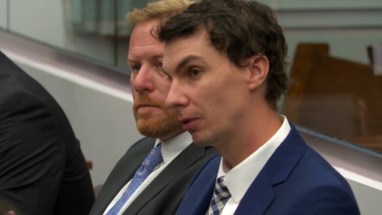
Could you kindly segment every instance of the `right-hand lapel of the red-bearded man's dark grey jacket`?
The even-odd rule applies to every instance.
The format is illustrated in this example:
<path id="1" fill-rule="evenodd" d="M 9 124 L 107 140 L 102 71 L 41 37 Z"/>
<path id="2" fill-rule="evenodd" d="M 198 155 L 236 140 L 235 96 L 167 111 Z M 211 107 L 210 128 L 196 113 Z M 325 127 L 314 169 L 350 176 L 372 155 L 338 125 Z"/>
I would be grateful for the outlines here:
<path id="1" fill-rule="evenodd" d="M 204 156 L 204 147 L 191 143 L 152 181 L 123 213 L 137 214 L 144 205 L 162 191 L 174 178 Z"/>

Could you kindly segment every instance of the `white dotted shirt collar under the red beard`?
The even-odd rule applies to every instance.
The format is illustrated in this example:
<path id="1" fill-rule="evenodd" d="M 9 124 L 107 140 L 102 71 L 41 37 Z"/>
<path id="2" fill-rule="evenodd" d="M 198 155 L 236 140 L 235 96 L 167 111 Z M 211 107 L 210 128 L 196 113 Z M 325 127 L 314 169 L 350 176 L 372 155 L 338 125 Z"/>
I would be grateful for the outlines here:
<path id="1" fill-rule="evenodd" d="M 186 131 L 167 140 L 166 142 L 161 142 L 161 140 L 157 139 L 154 147 L 159 143 L 162 143 L 161 152 L 163 162 L 168 164 L 192 143 L 192 136 L 188 131 Z"/>

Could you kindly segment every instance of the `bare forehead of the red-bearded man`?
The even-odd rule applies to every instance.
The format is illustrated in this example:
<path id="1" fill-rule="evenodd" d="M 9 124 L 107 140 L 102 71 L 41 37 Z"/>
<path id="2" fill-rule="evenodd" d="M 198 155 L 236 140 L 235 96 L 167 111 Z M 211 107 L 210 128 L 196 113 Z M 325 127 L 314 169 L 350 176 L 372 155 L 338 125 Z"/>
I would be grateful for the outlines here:
<path id="1" fill-rule="evenodd" d="M 130 48 L 162 44 L 157 38 L 153 37 L 151 33 L 155 33 L 158 24 L 159 20 L 151 20 L 137 24 L 131 33 Z"/>

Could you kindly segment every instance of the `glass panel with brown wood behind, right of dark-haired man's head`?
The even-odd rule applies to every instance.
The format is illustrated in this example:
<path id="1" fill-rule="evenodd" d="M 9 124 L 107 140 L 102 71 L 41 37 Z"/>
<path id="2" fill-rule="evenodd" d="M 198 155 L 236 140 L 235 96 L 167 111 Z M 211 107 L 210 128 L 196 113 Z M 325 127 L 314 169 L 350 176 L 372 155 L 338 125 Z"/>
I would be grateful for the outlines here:
<path id="1" fill-rule="evenodd" d="M 326 2 L 312 10 L 301 1 L 277 10 L 296 81 L 282 113 L 296 124 L 382 152 L 382 3 L 360 2 L 333 2 L 335 10 Z"/>

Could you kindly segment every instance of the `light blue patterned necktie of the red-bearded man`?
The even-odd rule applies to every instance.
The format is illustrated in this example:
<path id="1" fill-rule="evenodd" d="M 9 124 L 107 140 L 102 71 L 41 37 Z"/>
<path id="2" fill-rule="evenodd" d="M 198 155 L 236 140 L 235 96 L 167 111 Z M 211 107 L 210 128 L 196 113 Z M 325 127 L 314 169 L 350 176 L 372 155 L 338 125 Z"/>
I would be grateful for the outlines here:
<path id="1" fill-rule="evenodd" d="M 126 191 L 122 194 L 119 200 L 114 204 L 114 206 L 107 212 L 106 215 L 118 215 L 122 206 L 130 198 L 130 196 L 141 186 L 142 182 L 147 178 L 147 176 L 152 172 L 152 170 L 163 161 L 161 153 L 161 145 L 155 146 L 151 152 L 147 155 L 141 164 L 141 167 L 135 172 L 133 179 Z"/>

